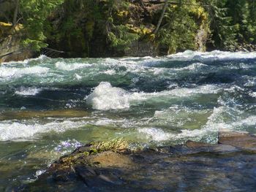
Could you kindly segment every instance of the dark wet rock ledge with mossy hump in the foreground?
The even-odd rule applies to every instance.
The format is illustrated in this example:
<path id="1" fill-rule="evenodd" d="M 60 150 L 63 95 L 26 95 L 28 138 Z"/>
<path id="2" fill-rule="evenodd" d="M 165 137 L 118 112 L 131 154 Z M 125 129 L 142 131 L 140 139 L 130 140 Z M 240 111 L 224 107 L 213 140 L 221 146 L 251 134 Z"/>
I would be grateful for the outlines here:
<path id="1" fill-rule="evenodd" d="M 256 137 L 219 130 L 218 144 L 129 150 L 121 140 L 64 155 L 18 191 L 255 191 Z"/>

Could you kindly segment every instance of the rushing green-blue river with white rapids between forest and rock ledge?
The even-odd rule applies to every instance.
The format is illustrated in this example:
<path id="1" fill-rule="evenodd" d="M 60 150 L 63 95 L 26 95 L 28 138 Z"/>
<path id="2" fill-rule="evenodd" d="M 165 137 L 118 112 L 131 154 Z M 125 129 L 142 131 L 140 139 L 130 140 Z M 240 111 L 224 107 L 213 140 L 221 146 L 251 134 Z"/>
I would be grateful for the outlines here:
<path id="1" fill-rule="evenodd" d="M 256 53 L 1 64 L 0 191 L 88 142 L 214 143 L 219 128 L 256 134 Z"/>

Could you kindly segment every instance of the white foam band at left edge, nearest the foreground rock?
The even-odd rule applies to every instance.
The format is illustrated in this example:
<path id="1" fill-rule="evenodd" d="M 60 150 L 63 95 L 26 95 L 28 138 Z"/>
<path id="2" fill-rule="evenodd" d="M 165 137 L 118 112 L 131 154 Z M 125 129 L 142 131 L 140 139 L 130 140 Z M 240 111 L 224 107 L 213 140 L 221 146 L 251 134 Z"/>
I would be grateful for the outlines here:
<path id="1" fill-rule="evenodd" d="M 86 124 L 86 121 L 64 120 L 46 124 L 2 121 L 0 123 L 0 141 L 34 139 L 37 134 L 49 131 L 62 132 L 71 128 L 78 128 Z"/>

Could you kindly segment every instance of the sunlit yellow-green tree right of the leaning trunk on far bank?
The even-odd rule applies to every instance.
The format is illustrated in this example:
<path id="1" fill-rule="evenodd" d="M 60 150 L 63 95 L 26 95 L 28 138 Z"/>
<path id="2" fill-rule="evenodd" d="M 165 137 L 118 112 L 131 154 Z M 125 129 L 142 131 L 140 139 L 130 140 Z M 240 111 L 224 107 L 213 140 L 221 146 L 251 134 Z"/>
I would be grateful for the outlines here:
<path id="1" fill-rule="evenodd" d="M 167 7 L 157 40 L 169 47 L 168 53 L 176 53 L 176 50 L 195 50 L 195 36 L 200 26 L 196 23 L 194 9 L 187 4 Z"/>

